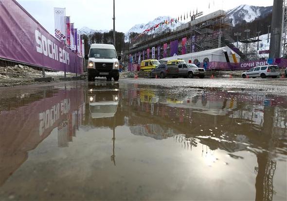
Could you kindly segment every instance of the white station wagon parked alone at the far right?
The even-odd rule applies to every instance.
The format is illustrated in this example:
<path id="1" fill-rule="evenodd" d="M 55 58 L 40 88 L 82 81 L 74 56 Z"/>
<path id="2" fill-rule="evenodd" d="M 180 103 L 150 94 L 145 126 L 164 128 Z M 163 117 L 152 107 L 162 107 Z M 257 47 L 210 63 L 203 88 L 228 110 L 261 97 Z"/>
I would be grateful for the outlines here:
<path id="1" fill-rule="evenodd" d="M 262 67 L 252 67 L 246 72 L 242 73 L 242 78 L 246 78 L 247 76 L 251 78 L 261 77 L 272 77 L 277 78 L 280 75 L 279 67 L 270 65 L 270 66 L 262 66 Z"/>

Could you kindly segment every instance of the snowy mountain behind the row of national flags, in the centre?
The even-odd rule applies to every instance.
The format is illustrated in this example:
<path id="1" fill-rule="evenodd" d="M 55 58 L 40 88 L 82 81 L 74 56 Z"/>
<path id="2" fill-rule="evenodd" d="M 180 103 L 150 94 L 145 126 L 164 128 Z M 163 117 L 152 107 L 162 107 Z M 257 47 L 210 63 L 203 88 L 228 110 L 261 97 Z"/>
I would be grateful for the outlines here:
<path id="1" fill-rule="evenodd" d="M 130 33 L 143 33 L 144 30 L 149 29 L 155 26 L 156 24 L 161 23 L 165 20 L 170 21 L 171 19 L 172 17 L 170 16 L 161 16 L 161 17 L 155 18 L 152 21 L 149 21 L 147 24 L 136 24 L 128 32 L 125 33 L 125 41 L 128 42 Z M 168 25 L 164 24 L 162 26 L 159 26 L 155 31 L 151 31 L 149 33 L 160 33 L 160 32 L 163 32 L 169 29 L 173 30 L 181 24 L 182 24 L 181 22 L 178 22 L 178 23 L 173 22 L 173 23 L 169 23 Z"/>

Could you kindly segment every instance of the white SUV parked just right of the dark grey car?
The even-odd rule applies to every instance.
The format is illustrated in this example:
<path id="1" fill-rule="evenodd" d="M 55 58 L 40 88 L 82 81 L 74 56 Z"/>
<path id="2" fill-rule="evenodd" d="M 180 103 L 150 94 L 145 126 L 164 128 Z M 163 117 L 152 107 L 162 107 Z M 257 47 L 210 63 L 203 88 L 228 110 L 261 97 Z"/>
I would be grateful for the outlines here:
<path id="1" fill-rule="evenodd" d="M 197 67 L 195 64 L 179 64 L 179 76 L 194 78 L 195 76 L 199 78 L 205 77 L 205 69 L 201 67 Z"/>

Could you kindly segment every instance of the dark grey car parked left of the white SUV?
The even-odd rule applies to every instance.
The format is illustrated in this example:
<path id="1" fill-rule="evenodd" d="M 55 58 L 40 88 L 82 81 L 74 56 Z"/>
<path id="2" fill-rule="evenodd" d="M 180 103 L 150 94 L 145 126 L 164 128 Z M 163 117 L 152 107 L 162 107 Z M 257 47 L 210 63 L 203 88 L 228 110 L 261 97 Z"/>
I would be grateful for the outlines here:
<path id="1" fill-rule="evenodd" d="M 165 78 L 165 77 L 177 78 L 179 77 L 179 68 L 177 65 L 161 64 L 156 69 L 153 69 L 150 72 L 151 78 L 154 78 L 156 76 L 160 78 Z"/>

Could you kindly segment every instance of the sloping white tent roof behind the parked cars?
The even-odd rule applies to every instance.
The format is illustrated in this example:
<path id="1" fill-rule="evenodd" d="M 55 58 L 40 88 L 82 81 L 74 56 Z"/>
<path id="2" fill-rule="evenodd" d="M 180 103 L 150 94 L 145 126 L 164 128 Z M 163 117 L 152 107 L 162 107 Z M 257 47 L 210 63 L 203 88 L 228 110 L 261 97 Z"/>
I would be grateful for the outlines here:
<path id="1" fill-rule="evenodd" d="M 230 55 L 230 51 L 233 51 L 232 49 L 230 49 L 229 47 L 226 46 L 223 48 L 216 48 L 216 49 L 212 49 L 212 50 L 197 51 L 197 52 L 189 53 L 189 54 L 182 54 L 182 55 L 177 55 L 177 56 L 172 56 L 172 57 L 166 57 L 166 58 L 161 59 L 161 61 L 169 61 L 169 60 L 173 60 L 173 59 L 195 58 L 195 57 L 207 56 L 207 55 L 224 55 L 223 50 L 227 51 L 229 55 Z M 235 55 L 237 58 L 240 58 L 240 56 L 238 54 L 235 53 Z"/>

